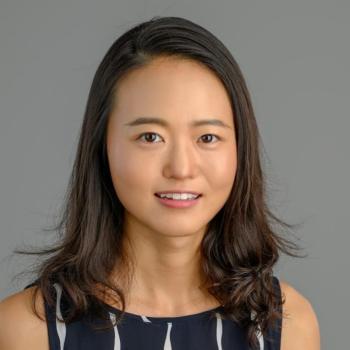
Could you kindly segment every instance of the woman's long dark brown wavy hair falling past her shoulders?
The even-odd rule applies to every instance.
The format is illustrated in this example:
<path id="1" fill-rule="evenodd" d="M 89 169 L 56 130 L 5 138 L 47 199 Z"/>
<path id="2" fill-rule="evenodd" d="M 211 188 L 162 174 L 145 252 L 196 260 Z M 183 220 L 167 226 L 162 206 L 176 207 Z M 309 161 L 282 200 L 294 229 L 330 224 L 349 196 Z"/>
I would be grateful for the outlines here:
<path id="1" fill-rule="evenodd" d="M 129 261 L 121 249 L 124 208 L 110 176 L 106 126 L 117 97 L 118 80 L 157 57 L 190 59 L 205 65 L 221 79 L 229 94 L 237 141 L 237 172 L 229 198 L 208 224 L 201 246 L 202 268 L 209 281 L 208 291 L 224 306 L 224 317 L 239 322 L 254 347 L 257 327 L 266 335 L 267 329 L 282 317 L 278 312 L 281 301 L 272 284 L 272 269 L 280 252 L 305 256 L 293 253 L 300 248 L 283 237 L 284 229 L 293 225 L 280 220 L 268 208 L 261 140 L 242 72 L 223 43 L 190 20 L 156 16 L 131 28 L 112 44 L 92 81 L 60 221 L 49 229 L 58 232 L 58 242 L 40 251 L 15 253 L 52 254 L 35 267 L 39 287 L 36 292 L 40 289 L 53 305 L 52 283 L 61 284 L 72 304 L 66 322 L 92 309 L 103 317 L 96 286 L 116 296 L 124 312 L 122 286 L 110 278 L 116 262 Z M 273 228 L 274 224 L 279 229 Z"/>

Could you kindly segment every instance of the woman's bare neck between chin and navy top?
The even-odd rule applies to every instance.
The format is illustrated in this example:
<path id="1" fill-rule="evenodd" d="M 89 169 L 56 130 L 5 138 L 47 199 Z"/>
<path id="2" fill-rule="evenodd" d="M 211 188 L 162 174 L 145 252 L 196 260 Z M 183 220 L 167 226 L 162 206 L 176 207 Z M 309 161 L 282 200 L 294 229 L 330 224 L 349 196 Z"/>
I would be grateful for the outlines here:
<path id="1" fill-rule="evenodd" d="M 123 291 L 130 312 L 177 315 L 218 306 L 206 290 L 201 269 L 203 232 L 180 237 L 140 231 L 136 236 L 132 232 L 135 231 L 127 232 L 123 242 L 126 256 L 132 262 L 132 278 L 119 283 L 128 286 Z"/>

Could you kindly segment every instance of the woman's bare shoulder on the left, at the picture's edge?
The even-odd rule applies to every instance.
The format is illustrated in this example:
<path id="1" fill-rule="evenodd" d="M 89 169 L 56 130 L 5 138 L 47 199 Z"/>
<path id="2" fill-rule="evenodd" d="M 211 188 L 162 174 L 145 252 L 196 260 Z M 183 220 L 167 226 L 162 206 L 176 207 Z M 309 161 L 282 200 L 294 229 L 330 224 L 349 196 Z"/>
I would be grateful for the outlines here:
<path id="1" fill-rule="evenodd" d="M 49 349 L 45 308 L 40 290 L 37 293 L 36 308 L 45 321 L 40 320 L 31 307 L 35 288 L 24 289 L 0 301 L 0 349 Z"/>

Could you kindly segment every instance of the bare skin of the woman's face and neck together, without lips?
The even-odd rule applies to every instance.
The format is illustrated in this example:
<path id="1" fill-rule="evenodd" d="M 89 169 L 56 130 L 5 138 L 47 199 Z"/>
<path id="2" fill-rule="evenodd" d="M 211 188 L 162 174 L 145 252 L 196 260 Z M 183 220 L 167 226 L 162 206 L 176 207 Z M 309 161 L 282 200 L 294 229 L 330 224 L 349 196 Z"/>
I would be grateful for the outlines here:
<path id="1" fill-rule="evenodd" d="M 125 125 L 140 116 L 156 116 L 169 126 Z M 190 126 L 211 118 L 228 127 Z M 180 315 L 217 306 L 200 287 L 199 248 L 236 174 L 233 111 L 221 81 L 206 67 L 178 59 L 158 58 L 129 73 L 116 92 L 107 153 L 125 207 L 125 246 L 135 264 L 127 309 Z M 173 189 L 202 197 L 180 209 L 163 206 L 154 195 Z"/>

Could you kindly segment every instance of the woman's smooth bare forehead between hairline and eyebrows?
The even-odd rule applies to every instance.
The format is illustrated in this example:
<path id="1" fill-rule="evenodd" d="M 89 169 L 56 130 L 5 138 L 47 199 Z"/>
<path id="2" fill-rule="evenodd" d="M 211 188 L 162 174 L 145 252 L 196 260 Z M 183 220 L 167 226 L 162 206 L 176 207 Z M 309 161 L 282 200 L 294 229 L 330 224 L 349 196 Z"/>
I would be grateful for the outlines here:
<path id="1" fill-rule="evenodd" d="M 194 60 L 156 58 L 119 80 L 112 114 L 119 121 L 137 117 L 173 122 L 220 119 L 233 124 L 229 95 L 216 74 Z"/>

